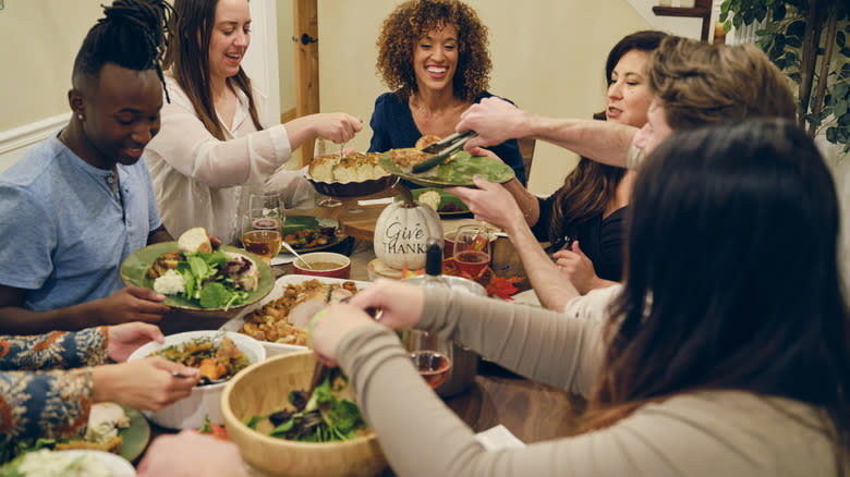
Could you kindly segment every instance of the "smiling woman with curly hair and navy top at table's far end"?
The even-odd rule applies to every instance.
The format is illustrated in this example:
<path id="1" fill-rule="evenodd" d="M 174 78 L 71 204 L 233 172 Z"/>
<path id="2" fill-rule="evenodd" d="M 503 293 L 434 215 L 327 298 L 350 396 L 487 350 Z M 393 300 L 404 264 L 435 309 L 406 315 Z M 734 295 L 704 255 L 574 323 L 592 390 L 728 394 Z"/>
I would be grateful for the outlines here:
<path id="1" fill-rule="evenodd" d="M 475 10 L 453 0 L 410 0 L 384 21 L 377 71 L 393 90 L 375 101 L 371 151 L 413 147 L 424 135 L 454 133 L 461 113 L 493 96 L 487 27 Z M 525 184 L 515 139 L 490 150 Z"/>

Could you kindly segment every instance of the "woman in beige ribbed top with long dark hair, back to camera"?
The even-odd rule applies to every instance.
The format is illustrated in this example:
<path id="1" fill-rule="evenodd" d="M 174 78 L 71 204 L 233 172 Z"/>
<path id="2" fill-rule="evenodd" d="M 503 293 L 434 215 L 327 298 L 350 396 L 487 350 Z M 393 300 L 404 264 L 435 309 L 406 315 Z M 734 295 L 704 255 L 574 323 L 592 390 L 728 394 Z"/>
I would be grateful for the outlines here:
<path id="1" fill-rule="evenodd" d="M 379 280 L 314 320 L 314 352 L 349 376 L 396 474 L 847 475 L 839 208 L 805 132 L 763 120 L 675 134 L 631 207 L 624 284 L 564 290 L 570 318 Z M 582 432 L 488 452 L 411 364 L 393 330 L 414 327 L 585 394 Z"/>

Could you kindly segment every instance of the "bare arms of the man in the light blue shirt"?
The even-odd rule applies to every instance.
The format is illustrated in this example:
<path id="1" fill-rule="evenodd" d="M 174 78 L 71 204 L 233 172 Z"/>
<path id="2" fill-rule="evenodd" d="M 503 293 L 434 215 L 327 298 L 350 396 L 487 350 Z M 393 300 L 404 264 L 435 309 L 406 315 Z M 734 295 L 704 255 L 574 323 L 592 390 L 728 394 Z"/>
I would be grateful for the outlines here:
<path id="1" fill-rule="evenodd" d="M 165 225 L 147 235 L 147 243 L 173 241 Z M 77 331 L 127 321 L 157 322 L 171 308 L 165 295 L 141 286 L 127 286 L 107 296 L 65 308 L 32 311 L 24 308 L 26 290 L 0 285 L 0 334 L 38 334 L 53 330 Z"/>

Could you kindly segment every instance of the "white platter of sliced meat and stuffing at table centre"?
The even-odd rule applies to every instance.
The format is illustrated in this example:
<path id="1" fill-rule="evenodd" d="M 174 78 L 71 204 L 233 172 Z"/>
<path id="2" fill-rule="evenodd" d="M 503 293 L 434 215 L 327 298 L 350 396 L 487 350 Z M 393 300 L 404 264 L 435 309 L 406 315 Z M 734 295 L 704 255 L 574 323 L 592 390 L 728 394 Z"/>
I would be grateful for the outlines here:
<path id="1" fill-rule="evenodd" d="M 259 341 L 267 356 L 305 351 L 307 323 L 313 315 L 326 306 L 326 302 L 337 303 L 369 284 L 305 274 L 283 276 L 275 282 L 271 293 L 246 307 L 221 329 L 247 334 Z M 318 308 L 315 308 L 316 302 Z"/>

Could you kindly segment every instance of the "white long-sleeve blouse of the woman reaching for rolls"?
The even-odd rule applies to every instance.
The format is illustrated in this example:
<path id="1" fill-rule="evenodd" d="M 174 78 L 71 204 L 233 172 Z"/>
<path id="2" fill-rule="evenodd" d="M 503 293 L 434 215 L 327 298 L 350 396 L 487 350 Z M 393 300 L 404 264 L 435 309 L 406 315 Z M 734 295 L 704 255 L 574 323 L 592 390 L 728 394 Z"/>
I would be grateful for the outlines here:
<path id="1" fill-rule="evenodd" d="M 257 131 L 248 112 L 247 97 L 236 91 L 236 111 L 226 140 L 204 127 L 185 91 L 166 75 L 171 102 L 161 111 L 161 127 L 145 148 L 162 223 L 172 236 L 193 227 L 204 227 L 224 243 L 236 236 L 240 187 L 264 181 L 292 155 L 284 126 L 267 118 L 267 100 L 254 91 L 257 113 L 265 125 Z M 286 175 L 283 181 L 279 175 Z M 301 173 L 280 170 L 278 183 L 291 182 L 292 192 L 309 189 Z"/>

